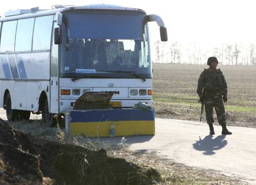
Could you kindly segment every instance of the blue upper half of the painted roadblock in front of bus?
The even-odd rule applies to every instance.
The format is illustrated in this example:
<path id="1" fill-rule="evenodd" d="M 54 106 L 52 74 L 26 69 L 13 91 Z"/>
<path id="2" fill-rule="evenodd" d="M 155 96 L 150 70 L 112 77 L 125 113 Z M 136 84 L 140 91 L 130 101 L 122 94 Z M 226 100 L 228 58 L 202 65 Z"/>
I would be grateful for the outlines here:
<path id="1" fill-rule="evenodd" d="M 71 122 L 100 121 L 149 121 L 154 120 L 154 109 L 106 109 L 106 110 L 73 110 Z"/>

